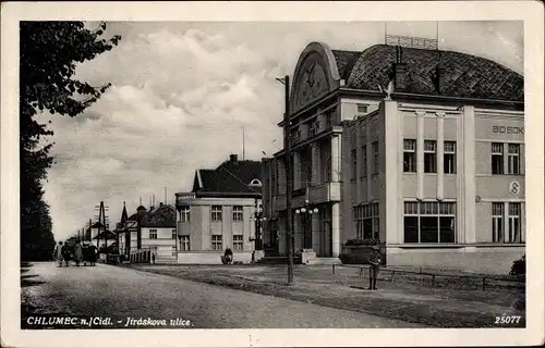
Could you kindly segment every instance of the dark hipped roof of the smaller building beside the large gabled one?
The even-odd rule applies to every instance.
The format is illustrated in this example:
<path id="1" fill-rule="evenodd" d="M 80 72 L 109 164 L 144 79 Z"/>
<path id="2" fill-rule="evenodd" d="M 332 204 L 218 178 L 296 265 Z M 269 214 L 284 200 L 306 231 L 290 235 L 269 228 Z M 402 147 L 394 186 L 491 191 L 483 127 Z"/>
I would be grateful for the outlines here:
<path id="1" fill-rule="evenodd" d="M 258 161 L 226 161 L 216 170 L 198 170 L 193 185 L 194 192 L 218 194 L 261 194 L 259 187 L 249 184 L 262 177 L 262 163 Z M 198 186 L 198 175 L 202 187 Z"/>

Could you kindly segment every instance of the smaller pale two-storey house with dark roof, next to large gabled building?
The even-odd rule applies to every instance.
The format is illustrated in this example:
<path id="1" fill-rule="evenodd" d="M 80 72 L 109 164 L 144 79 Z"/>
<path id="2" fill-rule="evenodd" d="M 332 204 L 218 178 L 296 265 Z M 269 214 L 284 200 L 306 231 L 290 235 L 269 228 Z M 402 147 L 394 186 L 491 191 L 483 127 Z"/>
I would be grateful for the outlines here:
<path id="1" fill-rule="evenodd" d="M 215 170 L 197 170 L 191 192 L 175 194 L 178 262 L 220 263 L 227 248 L 250 262 L 257 243 L 253 221 L 261 208 L 262 166 L 237 154 Z"/>

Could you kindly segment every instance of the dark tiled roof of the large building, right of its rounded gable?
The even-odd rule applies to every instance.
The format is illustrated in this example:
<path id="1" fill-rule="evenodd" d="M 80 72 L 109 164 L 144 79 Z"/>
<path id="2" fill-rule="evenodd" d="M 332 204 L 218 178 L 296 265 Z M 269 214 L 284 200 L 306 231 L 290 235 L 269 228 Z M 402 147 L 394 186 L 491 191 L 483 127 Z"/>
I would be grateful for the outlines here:
<path id="1" fill-rule="evenodd" d="M 396 62 L 396 49 L 395 46 L 375 45 L 364 50 L 350 71 L 347 87 L 378 90 L 378 85 L 382 85 L 386 88 L 392 63 Z M 496 62 L 460 52 L 415 48 L 402 48 L 402 62 L 407 63 L 407 86 L 403 90 L 396 91 L 437 95 L 433 74 L 439 62 L 439 53 L 445 67 L 443 96 L 524 100 L 523 77 Z M 339 62 L 342 62 L 341 66 L 346 70 L 347 64 L 340 59 L 341 55 L 348 54 L 339 55 Z M 343 73 L 348 75 L 348 72 Z"/>

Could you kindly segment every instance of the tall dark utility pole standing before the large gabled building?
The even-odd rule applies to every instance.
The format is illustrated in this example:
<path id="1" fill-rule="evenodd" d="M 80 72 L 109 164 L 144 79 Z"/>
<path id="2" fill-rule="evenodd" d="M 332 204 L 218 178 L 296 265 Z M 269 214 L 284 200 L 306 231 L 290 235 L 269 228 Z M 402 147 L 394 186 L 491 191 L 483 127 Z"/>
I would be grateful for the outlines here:
<path id="1" fill-rule="evenodd" d="M 291 114 L 290 114 L 290 76 L 277 78 L 284 85 L 284 124 L 283 124 L 283 145 L 286 158 L 286 237 L 288 248 L 288 285 L 293 284 L 293 232 L 292 232 L 292 212 L 291 212 L 291 191 L 293 189 L 293 166 L 291 163 Z"/>

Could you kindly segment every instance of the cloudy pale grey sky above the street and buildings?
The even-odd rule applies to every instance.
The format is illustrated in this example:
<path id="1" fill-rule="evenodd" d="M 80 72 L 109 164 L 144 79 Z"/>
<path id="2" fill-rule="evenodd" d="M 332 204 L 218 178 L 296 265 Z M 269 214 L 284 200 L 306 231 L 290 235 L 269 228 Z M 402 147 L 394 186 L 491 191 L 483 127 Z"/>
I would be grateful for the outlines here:
<path id="1" fill-rule="evenodd" d="M 88 23 L 93 27 L 94 23 Z M 436 22 L 389 22 L 390 35 L 437 37 Z M 440 22 L 439 48 L 523 73 L 522 22 Z M 110 22 L 118 47 L 77 67 L 77 78 L 112 86 L 76 117 L 51 120 L 56 163 L 45 183 L 57 240 L 109 207 L 110 227 L 126 202 L 173 203 L 196 169 L 238 153 L 261 160 L 281 148 L 283 86 L 312 41 L 363 51 L 384 44 L 384 22 Z M 265 154 L 264 154 L 265 153 Z"/>

